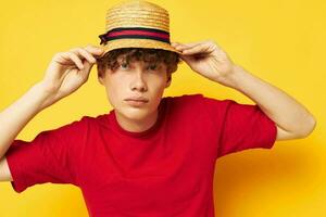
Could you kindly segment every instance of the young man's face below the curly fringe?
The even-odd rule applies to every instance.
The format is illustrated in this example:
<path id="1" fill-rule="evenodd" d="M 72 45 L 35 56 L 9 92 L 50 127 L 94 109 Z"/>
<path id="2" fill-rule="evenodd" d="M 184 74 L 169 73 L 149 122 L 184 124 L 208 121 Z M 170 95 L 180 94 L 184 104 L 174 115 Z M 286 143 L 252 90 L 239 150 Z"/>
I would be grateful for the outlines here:
<path id="1" fill-rule="evenodd" d="M 114 71 L 106 68 L 100 84 L 106 89 L 108 100 L 118 115 L 141 120 L 158 110 L 164 89 L 171 85 L 164 63 L 117 59 Z"/>

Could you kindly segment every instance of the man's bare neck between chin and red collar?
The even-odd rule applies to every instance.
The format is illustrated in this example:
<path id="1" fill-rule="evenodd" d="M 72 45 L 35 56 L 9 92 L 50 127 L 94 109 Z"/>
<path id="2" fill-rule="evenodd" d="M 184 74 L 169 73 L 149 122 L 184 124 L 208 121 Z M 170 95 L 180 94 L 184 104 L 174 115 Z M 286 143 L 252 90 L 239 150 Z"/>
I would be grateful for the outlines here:
<path id="1" fill-rule="evenodd" d="M 116 122 L 118 123 L 118 125 L 123 129 L 125 129 L 127 131 L 131 131 L 131 132 L 141 132 L 141 131 L 148 130 L 156 123 L 158 116 L 159 116 L 158 110 L 155 110 L 155 112 L 148 115 L 143 119 L 130 119 L 130 118 L 120 114 L 116 111 L 114 111 L 114 112 L 115 112 L 115 117 L 116 117 Z"/>

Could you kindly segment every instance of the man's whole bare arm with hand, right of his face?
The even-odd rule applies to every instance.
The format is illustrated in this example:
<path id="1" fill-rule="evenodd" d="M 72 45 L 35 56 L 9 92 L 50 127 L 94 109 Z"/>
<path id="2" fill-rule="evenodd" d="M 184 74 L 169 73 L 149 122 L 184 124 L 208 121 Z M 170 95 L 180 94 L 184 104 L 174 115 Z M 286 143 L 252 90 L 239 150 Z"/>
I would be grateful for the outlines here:
<path id="1" fill-rule="evenodd" d="M 213 40 L 195 43 L 173 42 L 181 59 L 200 75 L 234 88 L 254 101 L 277 125 L 277 140 L 309 136 L 316 125 L 314 116 L 297 100 L 234 64 Z"/>

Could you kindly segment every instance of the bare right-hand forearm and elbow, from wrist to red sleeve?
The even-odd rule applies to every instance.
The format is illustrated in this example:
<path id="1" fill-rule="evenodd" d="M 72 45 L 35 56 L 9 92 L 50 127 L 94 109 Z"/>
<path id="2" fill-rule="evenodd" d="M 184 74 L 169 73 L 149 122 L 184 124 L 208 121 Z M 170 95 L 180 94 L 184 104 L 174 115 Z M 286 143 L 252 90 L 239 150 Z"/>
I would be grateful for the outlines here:
<path id="1" fill-rule="evenodd" d="M 304 138 L 315 128 L 314 116 L 296 99 L 236 65 L 235 89 L 252 99 L 277 124 L 277 140 Z"/>

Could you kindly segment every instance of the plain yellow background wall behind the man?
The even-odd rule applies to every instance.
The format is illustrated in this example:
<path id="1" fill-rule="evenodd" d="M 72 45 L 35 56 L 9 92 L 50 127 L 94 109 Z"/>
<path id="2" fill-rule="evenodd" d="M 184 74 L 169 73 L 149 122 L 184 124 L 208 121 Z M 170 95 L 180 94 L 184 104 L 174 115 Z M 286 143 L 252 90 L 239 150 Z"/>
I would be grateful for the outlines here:
<path id="1" fill-rule="evenodd" d="M 42 79 L 55 52 L 99 44 L 105 11 L 116 2 L 2 2 L 0 111 Z M 153 2 L 170 11 L 172 41 L 215 40 L 235 63 L 296 98 L 317 119 L 314 132 L 305 139 L 277 141 L 272 150 L 248 150 L 216 161 L 216 216 L 326 216 L 325 1 Z M 239 91 L 199 76 L 186 64 L 174 74 L 165 95 L 198 92 L 253 104 Z M 39 113 L 18 138 L 30 140 L 42 130 L 110 110 L 93 67 L 88 82 Z M 37 184 L 17 194 L 9 182 L 1 182 L 0 210 L 2 217 L 88 216 L 82 192 L 71 184 Z"/>

